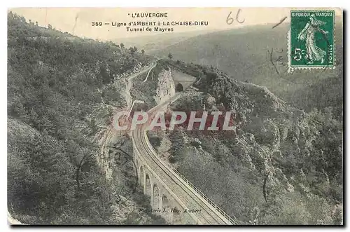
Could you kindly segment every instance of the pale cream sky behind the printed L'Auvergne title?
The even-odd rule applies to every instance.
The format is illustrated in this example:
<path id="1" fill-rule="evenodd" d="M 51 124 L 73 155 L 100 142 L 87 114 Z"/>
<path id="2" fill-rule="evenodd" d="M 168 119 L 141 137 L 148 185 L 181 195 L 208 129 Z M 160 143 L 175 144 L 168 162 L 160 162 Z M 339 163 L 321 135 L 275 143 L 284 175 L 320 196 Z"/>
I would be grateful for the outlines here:
<path id="1" fill-rule="evenodd" d="M 24 16 L 27 20 L 38 22 L 41 27 L 48 24 L 62 32 L 99 40 L 111 40 L 134 36 L 162 34 L 163 32 L 127 32 L 126 27 L 113 27 L 113 22 L 183 22 L 207 21 L 208 26 L 169 26 L 174 32 L 196 30 L 223 30 L 248 25 L 264 25 L 290 22 L 291 8 L 10 8 L 8 11 Z M 319 8 L 318 8 L 319 9 Z M 335 8 L 336 15 L 342 10 Z M 135 13 L 167 13 L 167 18 L 132 18 Z M 237 17 L 237 19 L 236 19 Z M 232 19 L 230 19 L 232 18 Z M 92 26 L 92 22 L 102 22 L 101 27 Z M 109 22 L 110 25 L 104 25 Z M 129 27 L 129 26 L 127 26 Z M 154 28 L 154 26 L 150 26 Z M 160 26 L 167 28 L 167 26 Z"/>

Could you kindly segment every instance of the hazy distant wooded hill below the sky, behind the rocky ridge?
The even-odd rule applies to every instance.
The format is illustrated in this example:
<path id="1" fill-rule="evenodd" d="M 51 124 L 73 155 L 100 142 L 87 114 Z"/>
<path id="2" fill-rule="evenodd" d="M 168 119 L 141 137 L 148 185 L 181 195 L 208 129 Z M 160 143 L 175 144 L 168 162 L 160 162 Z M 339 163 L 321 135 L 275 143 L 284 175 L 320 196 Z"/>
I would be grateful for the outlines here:
<path id="1" fill-rule="evenodd" d="M 337 64 L 340 65 L 343 60 L 341 22 L 337 22 L 335 28 L 335 36 L 339 38 L 337 39 L 339 42 L 336 43 L 336 58 Z M 290 96 L 297 97 L 295 93 L 300 90 L 309 91 L 307 86 L 318 85 L 322 79 L 337 77 L 336 81 L 339 83 L 335 91 L 342 93 L 342 66 L 335 70 L 303 70 L 288 74 L 287 32 L 287 24 L 279 25 L 274 29 L 272 25 L 231 29 L 195 36 L 167 48 L 154 50 L 152 54 L 166 57 L 172 53 L 173 60 L 217 67 L 239 81 L 267 86 L 277 96 L 293 104 L 302 103 L 303 99 L 296 100 Z M 332 81 L 322 81 L 322 83 L 329 82 Z M 342 101 L 342 99 L 338 100 Z M 325 103 L 327 103 L 326 100 Z M 302 105 L 297 107 L 304 109 Z"/>

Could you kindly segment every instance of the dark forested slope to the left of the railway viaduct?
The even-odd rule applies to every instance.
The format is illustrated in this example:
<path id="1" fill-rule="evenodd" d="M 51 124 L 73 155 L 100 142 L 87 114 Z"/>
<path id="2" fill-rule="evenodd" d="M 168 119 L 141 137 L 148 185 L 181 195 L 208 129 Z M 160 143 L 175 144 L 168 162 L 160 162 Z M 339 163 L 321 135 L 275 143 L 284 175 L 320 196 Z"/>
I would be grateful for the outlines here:
<path id="1" fill-rule="evenodd" d="M 124 74 L 151 58 L 115 43 L 80 39 L 8 13 L 8 211 L 24 224 L 158 224 L 119 204 L 97 165 L 97 131 L 124 107 Z M 119 82 L 118 82 L 119 81 Z M 105 123 L 97 124 L 97 120 Z M 139 205 L 138 205 L 139 203 Z M 131 205 L 131 206 L 130 206 Z M 137 210 L 137 212 L 132 212 Z M 139 214 L 139 215 L 138 215 Z M 130 219 L 131 218 L 131 219 Z"/>

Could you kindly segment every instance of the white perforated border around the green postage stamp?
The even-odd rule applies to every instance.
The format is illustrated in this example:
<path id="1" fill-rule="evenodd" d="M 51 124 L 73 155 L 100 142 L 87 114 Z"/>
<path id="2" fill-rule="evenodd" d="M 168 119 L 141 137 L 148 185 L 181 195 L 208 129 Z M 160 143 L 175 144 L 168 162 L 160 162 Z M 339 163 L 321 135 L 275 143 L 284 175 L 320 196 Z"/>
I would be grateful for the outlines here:
<path id="1" fill-rule="evenodd" d="M 289 11 L 289 17 L 290 19 L 292 18 L 292 11 L 302 11 L 300 9 L 293 9 L 293 10 L 290 10 Z M 325 11 L 324 9 L 323 10 L 307 10 L 305 9 L 304 11 Z M 291 65 L 291 55 L 290 55 L 290 36 L 291 36 L 291 30 L 292 30 L 292 22 L 290 21 L 289 23 L 289 29 L 288 29 L 288 35 L 287 35 L 287 56 L 288 56 L 288 73 L 291 73 L 293 72 L 294 70 L 296 69 L 308 69 L 308 70 L 311 70 L 311 69 L 335 69 L 336 67 L 336 62 L 337 62 L 337 58 L 335 56 L 335 10 L 332 9 L 332 10 L 328 10 L 328 11 L 333 11 L 333 48 L 334 48 L 334 51 L 333 51 L 333 54 L 334 54 L 334 63 L 332 66 L 293 66 Z"/>

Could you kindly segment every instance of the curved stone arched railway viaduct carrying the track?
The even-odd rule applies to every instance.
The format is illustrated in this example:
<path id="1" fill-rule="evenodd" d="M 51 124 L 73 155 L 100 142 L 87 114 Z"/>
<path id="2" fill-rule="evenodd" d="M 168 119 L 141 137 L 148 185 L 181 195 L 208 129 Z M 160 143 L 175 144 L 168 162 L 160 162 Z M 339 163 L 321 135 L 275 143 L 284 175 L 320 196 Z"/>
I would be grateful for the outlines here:
<path id="1" fill-rule="evenodd" d="M 153 114 L 163 104 L 154 107 L 148 114 Z M 132 145 L 139 184 L 144 194 L 150 196 L 153 212 L 160 214 L 170 224 L 237 224 L 186 177 L 162 161 L 148 140 L 146 126 L 146 123 L 138 125 L 132 131 Z"/>

